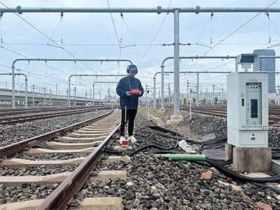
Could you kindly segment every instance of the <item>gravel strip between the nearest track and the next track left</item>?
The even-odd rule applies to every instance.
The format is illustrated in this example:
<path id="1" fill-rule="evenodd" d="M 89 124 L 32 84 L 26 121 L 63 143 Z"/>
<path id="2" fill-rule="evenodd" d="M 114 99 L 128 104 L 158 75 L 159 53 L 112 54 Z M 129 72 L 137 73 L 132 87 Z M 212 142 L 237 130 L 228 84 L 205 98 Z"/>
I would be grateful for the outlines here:
<path id="1" fill-rule="evenodd" d="M 100 116 L 108 111 L 98 111 L 97 114 L 92 111 L 89 113 L 73 114 L 71 116 L 35 120 L 17 125 L 0 125 L 0 147 L 73 125 L 83 120 Z"/>

